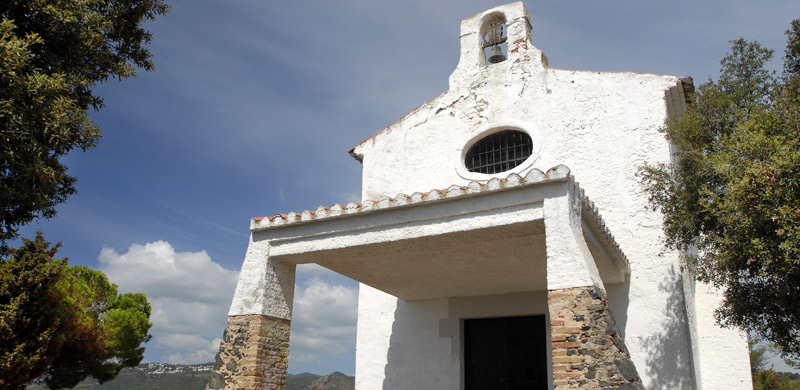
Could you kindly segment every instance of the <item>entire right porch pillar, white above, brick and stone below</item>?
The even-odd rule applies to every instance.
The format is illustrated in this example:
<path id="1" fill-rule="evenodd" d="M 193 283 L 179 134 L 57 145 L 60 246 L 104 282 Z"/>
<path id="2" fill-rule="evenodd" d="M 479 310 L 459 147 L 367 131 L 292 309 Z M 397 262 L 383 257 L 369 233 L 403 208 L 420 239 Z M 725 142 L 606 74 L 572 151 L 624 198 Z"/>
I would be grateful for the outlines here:
<path id="1" fill-rule="evenodd" d="M 644 390 L 584 239 L 580 190 L 566 167 L 552 174 L 566 178 L 544 199 L 554 389 Z"/>

